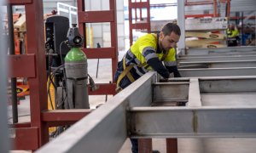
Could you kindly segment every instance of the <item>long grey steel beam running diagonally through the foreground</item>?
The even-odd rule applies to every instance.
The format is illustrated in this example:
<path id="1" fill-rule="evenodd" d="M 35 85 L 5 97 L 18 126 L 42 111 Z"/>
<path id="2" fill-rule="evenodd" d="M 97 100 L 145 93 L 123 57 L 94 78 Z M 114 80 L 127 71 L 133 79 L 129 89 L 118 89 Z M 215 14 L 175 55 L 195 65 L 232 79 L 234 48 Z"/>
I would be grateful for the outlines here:
<path id="1" fill-rule="evenodd" d="M 155 80 L 147 73 L 36 152 L 118 152 L 127 138 L 127 108 L 149 105 Z"/>

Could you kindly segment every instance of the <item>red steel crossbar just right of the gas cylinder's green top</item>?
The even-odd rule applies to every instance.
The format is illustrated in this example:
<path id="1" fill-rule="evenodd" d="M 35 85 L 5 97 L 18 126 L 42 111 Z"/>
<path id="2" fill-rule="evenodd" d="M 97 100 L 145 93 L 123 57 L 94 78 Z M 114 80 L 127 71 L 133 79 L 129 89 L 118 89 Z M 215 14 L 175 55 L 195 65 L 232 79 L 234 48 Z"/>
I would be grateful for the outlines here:
<path id="1" fill-rule="evenodd" d="M 88 59 L 115 59 L 115 48 L 81 48 Z"/>

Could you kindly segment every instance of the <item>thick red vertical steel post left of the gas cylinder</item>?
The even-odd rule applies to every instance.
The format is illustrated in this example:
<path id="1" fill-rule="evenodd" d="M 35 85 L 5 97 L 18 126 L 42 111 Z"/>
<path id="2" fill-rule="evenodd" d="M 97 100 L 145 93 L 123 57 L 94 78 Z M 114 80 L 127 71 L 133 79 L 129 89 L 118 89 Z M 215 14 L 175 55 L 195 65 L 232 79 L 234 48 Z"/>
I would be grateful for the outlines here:
<path id="1" fill-rule="evenodd" d="M 41 121 L 41 111 L 47 110 L 47 79 L 44 46 L 44 11 L 43 1 L 34 0 L 25 5 L 27 53 L 35 54 L 36 77 L 29 78 L 31 126 L 38 127 L 39 147 L 49 141 L 46 122 Z M 32 137 L 28 137 L 32 138 Z M 27 144 L 31 145 L 31 144 Z"/>

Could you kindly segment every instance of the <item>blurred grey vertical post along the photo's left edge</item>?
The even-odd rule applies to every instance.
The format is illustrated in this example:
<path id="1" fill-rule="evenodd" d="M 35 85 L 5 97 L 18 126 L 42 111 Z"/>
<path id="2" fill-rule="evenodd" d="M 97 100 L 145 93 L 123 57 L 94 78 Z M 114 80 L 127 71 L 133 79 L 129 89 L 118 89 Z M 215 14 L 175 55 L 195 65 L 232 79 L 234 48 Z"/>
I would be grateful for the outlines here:
<path id="1" fill-rule="evenodd" d="M 3 0 L 0 0 L 0 8 L 3 10 Z M 2 12 L 3 13 L 3 12 Z M 0 20 L 3 20 L 3 14 L 1 13 Z M 0 152 L 9 152 L 9 137 L 8 137 L 8 126 L 7 126 L 7 48 L 5 38 L 3 37 L 3 24 L 0 25 Z"/>

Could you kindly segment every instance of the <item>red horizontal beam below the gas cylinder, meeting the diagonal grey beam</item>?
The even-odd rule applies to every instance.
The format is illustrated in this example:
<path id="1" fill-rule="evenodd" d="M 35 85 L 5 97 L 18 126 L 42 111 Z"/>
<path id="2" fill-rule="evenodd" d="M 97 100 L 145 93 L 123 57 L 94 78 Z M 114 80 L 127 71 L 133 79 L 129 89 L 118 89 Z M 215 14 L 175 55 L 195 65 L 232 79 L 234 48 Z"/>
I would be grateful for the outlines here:
<path id="1" fill-rule="evenodd" d="M 42 111 L 42 121 L 47 122 L 48 127 L 70 125 L 87 116 L 90 111 L 89 109 Z"/>

